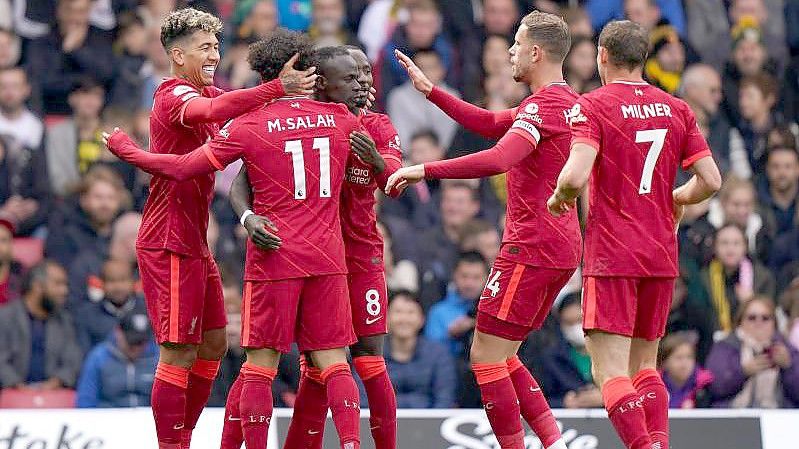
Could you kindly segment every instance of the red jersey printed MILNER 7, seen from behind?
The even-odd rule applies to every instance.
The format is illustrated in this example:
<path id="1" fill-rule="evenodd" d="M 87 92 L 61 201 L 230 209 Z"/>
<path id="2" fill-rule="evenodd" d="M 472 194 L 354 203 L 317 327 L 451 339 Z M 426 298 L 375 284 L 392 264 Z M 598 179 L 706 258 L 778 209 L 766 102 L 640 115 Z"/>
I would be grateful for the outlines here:
<path id="1" fill-rule="evenodd" d="M 569 118 L 572 142 L 598 151 L 583 274 L 677 276 L 677 167 L 710 156 L 693 112 L 647 83 L 619 81 L 580 97 Z"/>

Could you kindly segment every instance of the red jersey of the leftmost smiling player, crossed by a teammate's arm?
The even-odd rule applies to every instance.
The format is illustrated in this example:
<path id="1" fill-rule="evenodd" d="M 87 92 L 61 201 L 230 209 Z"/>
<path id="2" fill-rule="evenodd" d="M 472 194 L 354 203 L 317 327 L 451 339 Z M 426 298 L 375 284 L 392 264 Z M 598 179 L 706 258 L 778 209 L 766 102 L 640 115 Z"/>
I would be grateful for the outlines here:
<path id="1" fill-rule="evenodd" d="M 219 124 L 186 126 L 182 122 L 183 111 L 192 98 L 216 97 L 223 92 L 213 86 L 200 92 L 186 80 L 165 79 L 153 99 L 150 152 L 186 154 L 211 139 Z M 153 176 L 136 245 L 191 257 L 207 256 L 208 207 L 214 194 L 214 176 L 212 173 L 181 182 Z"/>

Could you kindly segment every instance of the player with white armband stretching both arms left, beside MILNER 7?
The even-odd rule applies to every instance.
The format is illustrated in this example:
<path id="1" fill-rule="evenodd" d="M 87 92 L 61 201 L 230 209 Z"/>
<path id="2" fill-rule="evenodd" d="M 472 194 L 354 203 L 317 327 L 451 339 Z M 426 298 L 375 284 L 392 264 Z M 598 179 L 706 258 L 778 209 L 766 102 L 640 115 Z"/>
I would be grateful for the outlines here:
<path id="1" fill-rule="evenodd" d="M 479 178 L 507 172 L 505 234 L 480 297 L 471 362 L 486 414 L 503 449 L 524 448 L 519 413 L 543 447 L 565 449 L 541 388 L 516 352 L 539 329 L 558 292 L 580 261 L 577 214 L 553 218 L 546 200 L 569 153 L 566 112 L 577 95 L 563 80 L 570 36 L 559 17 L 532 12 L 522 19 L 510 49 L 514 79 L 532 95 L 518 109 L 490 112 L 446 95 L 402 53 L 400 62 L 418 90 L 496 146 L 469 156 L 402 168 L 388 186 L 428 178 Z M 504 135 L 503 135 L 504 134 Z"/>

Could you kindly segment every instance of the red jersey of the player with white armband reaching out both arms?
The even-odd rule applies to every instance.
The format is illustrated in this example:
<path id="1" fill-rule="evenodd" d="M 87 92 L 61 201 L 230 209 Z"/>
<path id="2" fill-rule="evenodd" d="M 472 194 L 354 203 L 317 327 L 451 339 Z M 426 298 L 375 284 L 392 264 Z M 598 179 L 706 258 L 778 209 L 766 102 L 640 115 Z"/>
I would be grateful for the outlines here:
<path id="1" fill-rule="evenodd" d="M 571 139 L 566 112 L 577 94 L 566 83 L 552 83 L 525 98 L 509 132 L 536 145 L 508 171 L 508 205 L 500 255 L 547 268 L 576 268 L 581 240 L 577 213 L 555 218 L 547 199 L 569 157 Z"/>

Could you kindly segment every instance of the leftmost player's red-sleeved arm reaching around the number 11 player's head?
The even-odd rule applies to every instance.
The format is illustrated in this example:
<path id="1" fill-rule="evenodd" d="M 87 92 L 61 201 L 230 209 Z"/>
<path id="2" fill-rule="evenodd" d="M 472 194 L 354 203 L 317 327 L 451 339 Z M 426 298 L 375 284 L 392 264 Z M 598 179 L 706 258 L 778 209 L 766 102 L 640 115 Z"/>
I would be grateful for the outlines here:
<path id="1" fill-rule="evenodd" d="M 249 89 L 237 89 L 225 92 L 214 98 L 202 97 L 196 92 L 185 103 L 182 123 L 191 126 L 198 123 L 224 122 L 249 112 L 265 103 L 283 95 L 310 95 L 317 75 L 315 67 L 308 70 L 296 70 L 294 63 L 299 54 L 295 54 L 280 72 L 280 77 Z"/>

